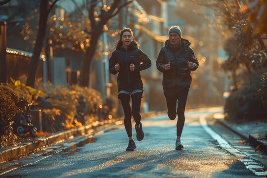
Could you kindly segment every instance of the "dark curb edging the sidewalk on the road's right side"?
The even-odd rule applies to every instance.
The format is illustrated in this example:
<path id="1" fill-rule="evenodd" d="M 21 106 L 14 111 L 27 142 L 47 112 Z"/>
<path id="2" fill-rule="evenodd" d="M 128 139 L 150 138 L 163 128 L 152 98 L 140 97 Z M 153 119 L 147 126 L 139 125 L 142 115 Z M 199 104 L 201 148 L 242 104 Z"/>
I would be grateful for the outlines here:
<path id="1" fill-rule="evenodd" d="M 218 122 L 220 124 L 222 124 L 223 126 L 225 126 L 226 128 L 228 128 L 229 130 L 231 130 L 232 132 L 234 132 L 235 134 L 238 134 L 239 136 L 241 136 L 243 139 L 247 140 L 249 143 L 251 143 L 253 146 L 260 146 L 260 150 L 264 151 L 267 153 L 267 141 L 263 139 L 263 137 L 259 134 L 243 134 L 239 131 L 237 131 L 234 127 L 232 127 L 229 123 L 227 123 L 224 120 L 218 120 Z"/>

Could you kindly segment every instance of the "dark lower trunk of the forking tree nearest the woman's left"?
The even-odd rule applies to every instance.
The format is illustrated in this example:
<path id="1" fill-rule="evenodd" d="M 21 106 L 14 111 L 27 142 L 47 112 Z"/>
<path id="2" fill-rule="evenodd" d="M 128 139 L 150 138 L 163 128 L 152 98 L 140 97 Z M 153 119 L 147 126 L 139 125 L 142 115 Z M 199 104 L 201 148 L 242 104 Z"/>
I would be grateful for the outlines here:
<path id="1" fill-rule="evenodd" d="M 90 69 L 92 58 L 94 56 L 94 53 L 97 47 L 97 41 L 102 33 L 103 33 L 103 26 L 101 26 L 100 28 L 96 28 L 96 30 L 92 32 L 90 47 L 86 51 L 83 72 L 82 72 L 82 84 L 84 87 L 88 87 L 89 85 L 89 80 L 90 80 L 89 69 Z"/>

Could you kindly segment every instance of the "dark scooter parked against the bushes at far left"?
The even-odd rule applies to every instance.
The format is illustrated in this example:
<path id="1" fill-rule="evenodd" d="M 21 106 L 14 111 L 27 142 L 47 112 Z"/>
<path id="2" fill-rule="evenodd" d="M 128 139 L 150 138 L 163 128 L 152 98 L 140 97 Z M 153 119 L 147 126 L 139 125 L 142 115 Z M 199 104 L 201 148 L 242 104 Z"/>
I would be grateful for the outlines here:
<path id="1" fill-rule="evenodd" d="M 47 99 L 46 97 L 45 99 Z M 44 102 L 45 99 L 42 101 Z M 39 104 L 41 104 L 40 102 Z M 30 132 L 31 136 L 35 137 L 36 127 L 32 124 L 31 109 L 36 108 L 39 104 L 28 103 L 24 98 L 20 97 L 18 106 L 21 108 L 26 108 L 21 114 L 16 115 L 13 118 L 14 123 L 12 124 L 13 131 L 18 136 L 24 136 L 24 134 Z"/>

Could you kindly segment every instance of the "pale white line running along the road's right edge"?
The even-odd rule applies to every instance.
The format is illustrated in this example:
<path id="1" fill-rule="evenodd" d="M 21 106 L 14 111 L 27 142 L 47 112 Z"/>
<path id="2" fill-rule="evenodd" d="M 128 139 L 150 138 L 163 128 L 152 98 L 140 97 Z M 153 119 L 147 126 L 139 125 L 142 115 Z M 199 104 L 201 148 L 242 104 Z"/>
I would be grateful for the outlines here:
<path id="1" fill-rule="evenodd" d="M 214 132 L 208 126 L 207 121 L 205 120 L 206 117 L 207 117 L 207 115 L 201 115 L 199 117 L 199 122 L 200 122 L 201 126 L 204 128 L 204 130 L 208 134 L 211 135 L 211 137 L 213 137 L 215 140 L 217 140 L 217 142 L 220 144 L 220 146 L 222 148 L 224 148 L 230 154 L 232 154 L 234 157 L 236 157 L 240 162 L 242 162 L 246 166 L 247 169 L 252 171 L 255 175 L 263 176 L 263 177 L 267 176 L 267 171 L 263 171 L 264 168 L 265 168 L 264 166 L 262 166 L 261 164 L 257 163 L 256 161 L 254 161 L 250 157 L 246 156 L 245 154 L 241 153 L 237 149 L 232 148 L 231 145 L 225 139 L 223 139 L 221 137 L 221 135 L 219 135 L 216 132 Z"/>

